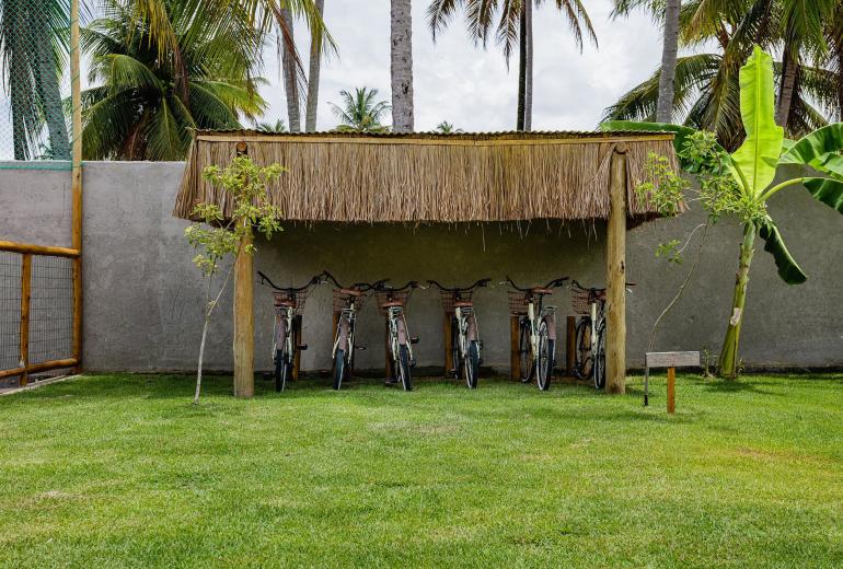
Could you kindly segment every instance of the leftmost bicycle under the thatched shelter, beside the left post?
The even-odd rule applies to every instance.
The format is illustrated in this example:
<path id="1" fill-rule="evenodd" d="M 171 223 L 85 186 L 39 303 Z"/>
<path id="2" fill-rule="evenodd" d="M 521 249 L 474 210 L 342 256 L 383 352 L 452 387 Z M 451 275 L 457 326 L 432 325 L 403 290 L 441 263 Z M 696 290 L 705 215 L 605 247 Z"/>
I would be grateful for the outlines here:
<path id="1" fill-rule="evenodd" d="M 273 323 L 273 361 L 275 363 L 275 391 L 282 392 L 292 374 L 296 356 L 308 349 L 307 344 L 295 345 L 301 330 L 301 310 L 308 294 L 324 281 L 324 275 L 316 275 L 303 287 L 278 287 L 269 277 L 257 271 L 261 284 L 273 289 L 275 321 Z"/>

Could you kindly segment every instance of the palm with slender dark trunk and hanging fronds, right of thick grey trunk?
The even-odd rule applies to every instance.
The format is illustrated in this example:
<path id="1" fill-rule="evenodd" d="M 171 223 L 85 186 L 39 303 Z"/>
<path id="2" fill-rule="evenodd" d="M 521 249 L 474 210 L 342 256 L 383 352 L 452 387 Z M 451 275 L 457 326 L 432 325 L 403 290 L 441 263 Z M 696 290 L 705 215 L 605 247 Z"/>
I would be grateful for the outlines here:
<path id="1" fill-rule="evenodd" d="M 457 9 L 464 7 L 469 35 L 484 48 L 497 19 L 495 38 L 504 50 L 507 67 L 518 43 L 518 130 L 532 127 L 533 1 L 536 7 L 542 3 L 542 0 L 431 0 L 427 9 L 427 23 L 434 40 L 450 23 Z M 584 35 L 597 45 L 597 35 L 582 0 L 554 0 L 553 3 L 567 20 L 580 51 Z"/>

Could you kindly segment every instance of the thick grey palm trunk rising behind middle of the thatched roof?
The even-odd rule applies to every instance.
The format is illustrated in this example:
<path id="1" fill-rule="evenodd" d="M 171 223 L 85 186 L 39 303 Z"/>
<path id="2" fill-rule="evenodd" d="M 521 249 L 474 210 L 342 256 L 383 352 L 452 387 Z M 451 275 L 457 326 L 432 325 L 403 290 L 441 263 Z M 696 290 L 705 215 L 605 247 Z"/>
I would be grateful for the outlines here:
<path id="1" fill-rule="evenodd" d="M 411 0 L 391 0 L 392 128 L 412 132 L 413 117 L 413 20 Z"/>

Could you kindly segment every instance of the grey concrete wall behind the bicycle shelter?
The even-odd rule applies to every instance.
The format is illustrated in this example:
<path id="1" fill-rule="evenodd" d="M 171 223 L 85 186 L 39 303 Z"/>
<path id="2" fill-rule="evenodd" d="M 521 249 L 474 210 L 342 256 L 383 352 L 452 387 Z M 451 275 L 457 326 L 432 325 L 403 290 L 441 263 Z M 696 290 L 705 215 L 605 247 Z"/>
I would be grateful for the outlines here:
<path id="1" fill-rule="evenodd" d="M 89 163 L 84 171 L 84 362 L 91 370 L 188 370 L 195 364 L 201 320 L 201 291 L 183 231 L 170 214 L 183 165 L 178 163 Z M 795 172 L 785 173 L 793 175 Z M 7 223 L 0 239 L 67 245 L 69 174 L 0 173 L 0 208 Z M 810 279 L 799 287 L 778 280 L 770 255 L 759 251 L 752 267 L 741 352 L 752 367 L 843 365 L 843 219 L 804 190 L 773 198 L 794 257 Z M 694 213 L 660 220 L 628 233 L 627 268 L 638 286 L 628 297 L 628 357 L 640 365 L 654 320 L 683 280 L 688 266 L 656 259 L 659 242 L 681 239 L 701 218 Z M 342 281 L 394 282 L 434 278 L 465 283 L 505 275 L 527 283 L 559 275 L 603 283 L 602 223 L 561 227 L 518 225 L 288 224 L 273 243 L 258 242 L 255 265 L 274 279 L 300 284 L 322 269 Z M 656 349 L 719 350 L 737 267 L 740 230 L 720 222 L 709 234 L 705 256 L 685 297 L 665 321 Z M 690 254 L 689 254 L 690 256 Z M 258 288 L 256 363 L 270 364 L 272 300 Z M 476 294 L 484 359 L 508 364 L 508 316 L 504 287 Z M 552 300 L 565 314 L 567 292 Z M 206 363 L 231 367 L 231 298 L 223 298 L 209 339 Z M 422 337 L 422 365 L 441 363 L 441 309 L 434 290 L 417 291 L 408 306 L 413 333 Z M 304 311 L 307 369 L 327 368 L 331 291 L 316 290 Z M 559 318 L 564 325 L 564 318 Z M 362 368 L 383 362 L 382 321 L 373 302 L 360 314 L 358 337 L 369 349 Z M 561 330 L 561 338 L 564 330 Z"/>

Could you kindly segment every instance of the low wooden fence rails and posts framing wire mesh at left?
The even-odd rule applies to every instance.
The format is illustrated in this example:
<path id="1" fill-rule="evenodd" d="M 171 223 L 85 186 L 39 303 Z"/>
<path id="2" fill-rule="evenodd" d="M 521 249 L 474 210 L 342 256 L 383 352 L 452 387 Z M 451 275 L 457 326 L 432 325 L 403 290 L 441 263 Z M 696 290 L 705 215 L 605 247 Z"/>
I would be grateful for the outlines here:
<path id="1" fill-rule="evenodd" d="M 30 375 L 45 371 L 76 368 L 80 363 L 81 353 L 81 299 L 77 293 L 80 271 L 78 265 L 81 260 L 79 249 L 66 247 L 45 247 L 42 245 L 32 245 L 28 243 L 14 243 L 10 241 L 0 241 L 0 252 L 14 253 L 21 257 L 21 279 L 20 279 L 20 329 L 19 329 L 19 361 L 18 365 L 9 369 L 0 369 L 0 379 L 18 376 L 19 383 L 23 386 L 28 383 Z M 71 321 L 72 328 L 72 348 L 67 358 L 47 359 L 33 363 L 31 358 L 31 333 L 32 333 L 32 298 L 33 298 L 33 257 L 58 257 L 72 259 L 72 276 L 70 278 L 70 288 L 68 292 L 72 297 L 70 314 L 67 315 Z"/>

